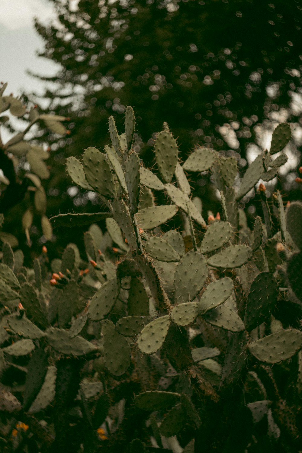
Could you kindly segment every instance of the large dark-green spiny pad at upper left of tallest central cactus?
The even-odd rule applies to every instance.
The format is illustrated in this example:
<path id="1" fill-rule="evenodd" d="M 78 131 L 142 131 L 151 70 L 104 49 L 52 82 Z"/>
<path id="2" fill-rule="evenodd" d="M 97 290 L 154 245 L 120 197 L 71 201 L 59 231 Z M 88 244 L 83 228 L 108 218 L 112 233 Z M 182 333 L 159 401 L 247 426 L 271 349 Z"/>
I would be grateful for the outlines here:
<path id="1" fill-rule="evenodd" d="M 116 198 L 116 188 L 110 165 L 105 154 L 89 147 L 83 154 L 84 173 L 94 190 L 106 198 Z"/>

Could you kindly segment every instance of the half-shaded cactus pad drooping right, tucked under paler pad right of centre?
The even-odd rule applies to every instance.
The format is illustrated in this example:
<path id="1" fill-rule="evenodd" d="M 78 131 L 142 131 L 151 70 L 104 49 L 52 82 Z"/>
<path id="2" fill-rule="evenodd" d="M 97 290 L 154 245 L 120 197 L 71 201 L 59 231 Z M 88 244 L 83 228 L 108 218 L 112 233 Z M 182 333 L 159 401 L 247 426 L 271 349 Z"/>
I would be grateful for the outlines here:
<path id="1" fill-rule="evenodd" d="M 222 327 L 231 332 L 244 330 L 244 323 L 238 314 L 226 305 L 212 308 L 203 315 L 204 320 L 213 326 Z"/>

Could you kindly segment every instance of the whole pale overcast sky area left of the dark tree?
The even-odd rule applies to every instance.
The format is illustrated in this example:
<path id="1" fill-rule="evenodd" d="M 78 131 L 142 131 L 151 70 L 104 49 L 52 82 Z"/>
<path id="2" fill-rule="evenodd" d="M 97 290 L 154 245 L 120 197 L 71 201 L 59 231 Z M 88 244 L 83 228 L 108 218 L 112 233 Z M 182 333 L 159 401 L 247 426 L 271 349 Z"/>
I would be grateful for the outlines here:
<path id="1" fill-rule="evenodd" d="M 8 82 L 5 94 L 42 92 L 43 84 L 26 74 L 29 69 L 41 75 L 54 75 L 59 65 L 36 56 L 43 42 L 34 30 L 33 18 L 47 23 L 54 17 L 48 0 L 0 0 L 0 81 Z"/>

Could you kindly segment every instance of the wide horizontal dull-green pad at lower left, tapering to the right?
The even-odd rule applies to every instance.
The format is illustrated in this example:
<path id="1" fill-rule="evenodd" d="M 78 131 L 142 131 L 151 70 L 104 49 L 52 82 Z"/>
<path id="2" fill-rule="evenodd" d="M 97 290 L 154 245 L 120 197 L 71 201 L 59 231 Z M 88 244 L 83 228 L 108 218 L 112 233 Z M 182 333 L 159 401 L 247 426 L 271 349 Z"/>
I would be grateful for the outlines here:
<path id="1" fill-rule="evenodd" d="M 67 330 L 49 327 L 46 330 L 48 343 L 57 352 L 67 356 L 84 356 L 96 352 L 96 347 L 83 337 L 71 338 Z"/>

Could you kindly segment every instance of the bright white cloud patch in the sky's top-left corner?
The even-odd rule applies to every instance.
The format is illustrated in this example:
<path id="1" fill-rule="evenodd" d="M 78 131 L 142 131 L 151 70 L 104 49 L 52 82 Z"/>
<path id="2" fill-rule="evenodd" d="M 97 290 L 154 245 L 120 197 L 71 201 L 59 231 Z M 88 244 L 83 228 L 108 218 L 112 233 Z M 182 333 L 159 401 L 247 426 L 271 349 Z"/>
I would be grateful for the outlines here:
<path id="1" fill-rule="evenodd" d="M 41 22 L 54 17 L 52 4 L 46 0 L 1 0 L 0 7 L 0 25 L 9 30 L 32 27 L 34 16 Z"/>

